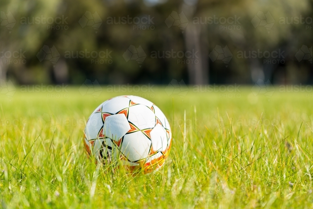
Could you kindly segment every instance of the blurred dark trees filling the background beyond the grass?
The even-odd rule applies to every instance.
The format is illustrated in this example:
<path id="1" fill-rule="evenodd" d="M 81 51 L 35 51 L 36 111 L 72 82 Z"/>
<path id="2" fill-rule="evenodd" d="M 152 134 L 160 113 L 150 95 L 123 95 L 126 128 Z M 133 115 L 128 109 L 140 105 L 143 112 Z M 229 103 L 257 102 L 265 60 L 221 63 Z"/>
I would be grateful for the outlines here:
<path id="1" fill-rule="evenodd" d="M 100 84 L 313 83 L 312 7 L 308 0 L 2 0 L 0 78 L 19 85 L 81 85 L 86 79 Z M 139 23 L 123 24 L 122 17 Z M 258 50 L 281 51 L 283 57 L 248 56 Z M 80 51 L 97 53 L 74 58 Z M 99 57 L 100 51 L 109 55 Z M 163 51 L 198 52 L 193 58 L 162 58 Z M 157 53 L 160 57 L 153 58 Z"/>

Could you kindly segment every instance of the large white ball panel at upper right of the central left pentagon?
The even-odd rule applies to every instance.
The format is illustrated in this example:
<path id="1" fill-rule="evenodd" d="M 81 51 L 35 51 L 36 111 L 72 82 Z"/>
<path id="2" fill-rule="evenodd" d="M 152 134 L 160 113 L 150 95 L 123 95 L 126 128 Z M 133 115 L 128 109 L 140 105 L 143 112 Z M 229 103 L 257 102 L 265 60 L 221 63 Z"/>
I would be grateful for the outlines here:
<path id="1" fill-rule="evenodd" d="M 129 107 L 128 120 L 140 130 L 153 128 L 156 123 L 154 112 L 142 104 Z"/>

